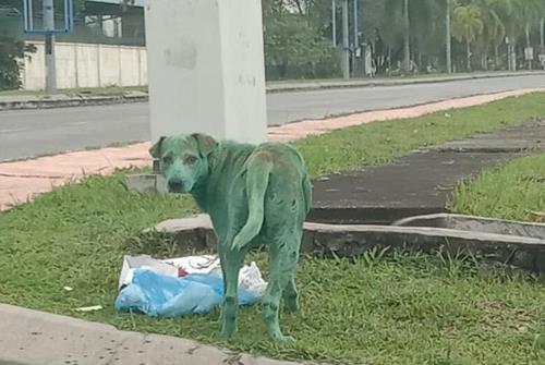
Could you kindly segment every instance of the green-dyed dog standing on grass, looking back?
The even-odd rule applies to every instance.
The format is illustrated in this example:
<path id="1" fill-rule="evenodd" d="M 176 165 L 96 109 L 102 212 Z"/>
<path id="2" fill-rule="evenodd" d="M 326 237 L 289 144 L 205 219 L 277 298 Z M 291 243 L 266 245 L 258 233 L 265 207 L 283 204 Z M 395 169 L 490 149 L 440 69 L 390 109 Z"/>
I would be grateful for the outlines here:
<path id="1" fill-rule="evenodd" d="M 191 193 L 210 216 L 223 272 L 221 332 L 237 331 L 238 278 L 250 248 L 269 246 L 270 278 L 262 299 L 270 336 L 280 331 L 280 297 L 298 308 L 295 266 L 312 185 L 299 151 L 280 143 L 217 142 L 203 134 L 161 137 L 149 153 L 159 159 L 169 192 Z"/>

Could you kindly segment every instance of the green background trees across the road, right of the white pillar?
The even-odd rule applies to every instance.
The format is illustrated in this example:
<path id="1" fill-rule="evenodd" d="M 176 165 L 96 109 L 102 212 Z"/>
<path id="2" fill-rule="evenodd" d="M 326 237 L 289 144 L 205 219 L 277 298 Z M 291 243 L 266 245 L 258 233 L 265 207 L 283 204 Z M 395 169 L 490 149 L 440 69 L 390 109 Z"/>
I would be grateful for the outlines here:
<path id="1" fill-rule="evenodd" d="M 338 75 L 340 62 L 330 47 L 330 0 L 264 0 L 263 3 L 270 78 Z M 543 0 L 409 0 L 409 29 L 405 29 L 403 3 L 404 0 L 360 2 L 363 16 L 359 25 L 361 40 L 372 48 L 379 73 L 399 72 L 398 62 L 403 61 L 404 42 L 410 44 L 410 57 L 419 71 L 444 69 L 447 7 L 451 8 L 452 35 L 456 37 L 452 54 L 458 70 L 468 69 L 468 61 L 475 68 L 479 59 L 484 70 L 488 66 L 506 69 L 506 36 L 511 45 L 525 38 L 526 46 L 537 48 L 540 21 L 545 17 Z M 341 1 L 337 1 L 338 40 L 342 32 L 340 8 Z M 352 37 L 352 14 L 349 23 Z M 516 49 L 520 58 L 522 49 Z M 334 65 L 335 70 L 331 70 Z"/>

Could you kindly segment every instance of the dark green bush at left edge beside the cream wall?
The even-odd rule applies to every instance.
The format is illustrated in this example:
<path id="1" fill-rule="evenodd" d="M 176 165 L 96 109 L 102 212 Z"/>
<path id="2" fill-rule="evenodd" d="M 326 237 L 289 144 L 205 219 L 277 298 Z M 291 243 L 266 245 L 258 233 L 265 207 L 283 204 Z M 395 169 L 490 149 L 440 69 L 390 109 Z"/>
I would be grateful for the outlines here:
<path id="1" fill-rule="evenodd" d="M 35 51 L 34 45 L 25 45 L 24 41 L 11 37 L 0 37 L 0 90 L 21 87 L 21 59 Z"/>

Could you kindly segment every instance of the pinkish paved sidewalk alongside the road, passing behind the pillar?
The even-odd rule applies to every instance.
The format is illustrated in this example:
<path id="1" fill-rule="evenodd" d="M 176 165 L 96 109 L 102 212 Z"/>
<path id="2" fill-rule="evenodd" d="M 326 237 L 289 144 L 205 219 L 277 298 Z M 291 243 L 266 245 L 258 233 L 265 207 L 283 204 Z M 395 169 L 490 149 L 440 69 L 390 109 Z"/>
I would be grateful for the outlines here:
<path id="1" fill-rule="evenodd" d="M 545 88 L 520 89 L 416 107 L 362 112 L 327 120 L 307 120 L 269 127 L 268 136 L 270 141 L 293 142 L 307 135 L 323 134 L 347 126 L 398 118 L 414 118 L 435 111 L 482 105 L 509 96 L 544 90 Z M 149 143 L 140 143 L 126 147 L 75 151 L 0 163 L 0 210 L 32 199 L 37 194 L 51 191 L 55 186 L 77 182 L 86 174 L 108 174 L 120 168 L 150 166 L 148 148 Z"/>

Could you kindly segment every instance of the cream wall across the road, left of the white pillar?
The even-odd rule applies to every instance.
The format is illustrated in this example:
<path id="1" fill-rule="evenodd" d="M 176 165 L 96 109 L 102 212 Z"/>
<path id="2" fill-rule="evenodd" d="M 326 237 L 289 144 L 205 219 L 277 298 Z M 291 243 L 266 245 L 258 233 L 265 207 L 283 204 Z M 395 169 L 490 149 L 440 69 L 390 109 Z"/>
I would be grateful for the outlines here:
<path id="1" fill-rule="evenodd" d="M 36 53 L 24 60 L 23 88 L 44 89 L 44 42 L 32 41 Z M 56 42 L 57 87 L 107 87 L 147 85 L 145 47 Z"/>

